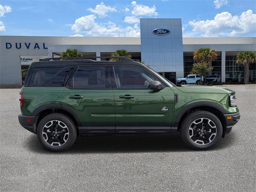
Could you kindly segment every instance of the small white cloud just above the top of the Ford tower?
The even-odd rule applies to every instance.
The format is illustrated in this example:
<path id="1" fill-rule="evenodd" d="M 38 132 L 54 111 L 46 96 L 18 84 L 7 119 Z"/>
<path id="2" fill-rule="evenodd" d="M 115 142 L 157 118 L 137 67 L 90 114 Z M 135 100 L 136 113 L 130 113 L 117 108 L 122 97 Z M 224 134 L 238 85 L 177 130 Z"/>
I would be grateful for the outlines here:
<path id="1" fill-rule="evenodd" d="M 145 5 L 137 4 L 136 1 L 132 2 L 132 11 L 131 13 L 135 16 L 157 16 L 156 6 L 152 6 L 151 8 Z"/>

